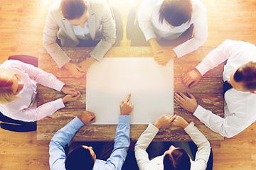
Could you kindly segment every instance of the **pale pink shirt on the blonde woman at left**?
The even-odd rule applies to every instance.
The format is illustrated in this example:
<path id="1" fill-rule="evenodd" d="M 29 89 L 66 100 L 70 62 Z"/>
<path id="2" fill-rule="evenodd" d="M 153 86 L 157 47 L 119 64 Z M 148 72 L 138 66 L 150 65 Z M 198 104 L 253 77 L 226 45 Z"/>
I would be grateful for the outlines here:
<path id="1" fill-rule="evenodd" d="M 36 107 L 37 84 L 42 84 L 57 91 L 60 91 L 64 86 L 64 83 L 53 74 L 18 60 L 7 60 L 0 65 L 0 68 L 18 72 L 18 74 L 21 74 L 21 81 L 24 84 L 22 91 L 17 95 L 20 98 L 11 103 L 0 104 L 0 112 L 4 115 L 16 120 L 29 122 L 45 118 L 55 113 L 58 109 L 65 107 L 61 98 L 45 103 L 38 108 Z"/>

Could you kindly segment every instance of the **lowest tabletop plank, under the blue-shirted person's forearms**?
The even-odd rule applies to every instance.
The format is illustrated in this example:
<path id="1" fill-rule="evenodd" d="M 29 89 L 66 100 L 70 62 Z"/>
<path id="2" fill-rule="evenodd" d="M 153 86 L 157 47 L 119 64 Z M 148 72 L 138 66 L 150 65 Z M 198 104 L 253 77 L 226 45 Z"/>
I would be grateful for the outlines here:
<path id="1" fill-rule="evenodd" d="M 147 125 L 131 125 L 130 138 L 132 141 L 138 140 Z M 208 140 L 224 140 L 224 137 L 208 129 L 206 125 L 197 125 Z M 38 125 L 37 140 L 50 140 L 55 132 L 63 128 L 62 125 Z M 73 141 L 113 141 L 117 125 L 84 125 L 78 132 Z M 106 132 L 107 130 L 107 132 Z M 190 141 L 191 138 L 179 127 L 171 126 L 159 130 L 154 141 Z"/>

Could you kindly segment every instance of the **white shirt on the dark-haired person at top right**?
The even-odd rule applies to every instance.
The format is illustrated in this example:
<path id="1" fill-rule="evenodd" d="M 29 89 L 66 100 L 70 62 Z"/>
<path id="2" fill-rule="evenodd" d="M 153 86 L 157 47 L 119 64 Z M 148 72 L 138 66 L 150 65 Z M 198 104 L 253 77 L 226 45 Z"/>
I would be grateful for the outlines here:
<path id="1" fill-rule="evenodd" d="M 197 50 L 198 47 L 206 42 L 208 36 L 206 7 L 203 6 L 200 0 L 191 0 L 193 10 L 191 21 L 171 29 L 164 21 L 163 23 L 159 22 L 159 9 L 163 1 L 164 0 L 144 0 L 142 2 L 138 14 L 138 22 L 146 40 L 151 38 L 178 38 L 178 36 L 184 33 L 193 23 L 194 37 L 178 45 L 173 50 L 178 57 L 182 57 L 189 52 Z"/>

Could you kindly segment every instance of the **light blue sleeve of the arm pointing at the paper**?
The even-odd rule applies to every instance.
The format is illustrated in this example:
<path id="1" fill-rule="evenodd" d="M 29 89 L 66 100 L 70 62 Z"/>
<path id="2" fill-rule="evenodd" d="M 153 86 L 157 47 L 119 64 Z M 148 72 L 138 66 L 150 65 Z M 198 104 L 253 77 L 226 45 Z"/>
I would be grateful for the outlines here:
<path id="1" fill-rule="evenodd" d="M 127 150 L 130 145 L 129 131 L 129 115 L 120 115 L 119 123 L 117 125 L 117 132 L 114 136 L 114 149 L 110 155 L 110 158 L 107 159 L 105 164 L 107 167 L 105 168 L 122 169 L 122 165 L 124 164 L 124 160 L 127 156 Z"/>

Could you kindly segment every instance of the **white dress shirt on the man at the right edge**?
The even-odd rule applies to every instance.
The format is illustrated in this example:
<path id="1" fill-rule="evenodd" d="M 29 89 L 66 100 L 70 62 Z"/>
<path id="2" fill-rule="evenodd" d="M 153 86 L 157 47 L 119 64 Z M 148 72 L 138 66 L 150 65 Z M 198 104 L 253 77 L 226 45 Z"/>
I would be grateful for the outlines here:
<path id="1" fill-rule="evenodd" d="M 230 79 L 230 74 L 247 62 L 256 62 L 256 47 L 249 42 L 225 40 L 211 51 L 196 69 L 203 75 L 213 67 L 228 59 L 224 66 L 223 81 Z M 245 130 L 256 120 L 256 94 L 229 89 L 225 93 L 225 118 L 213 114 L 201 106 L 195 115 L 208 128 L 225 137 L 233 137 Z"/>

